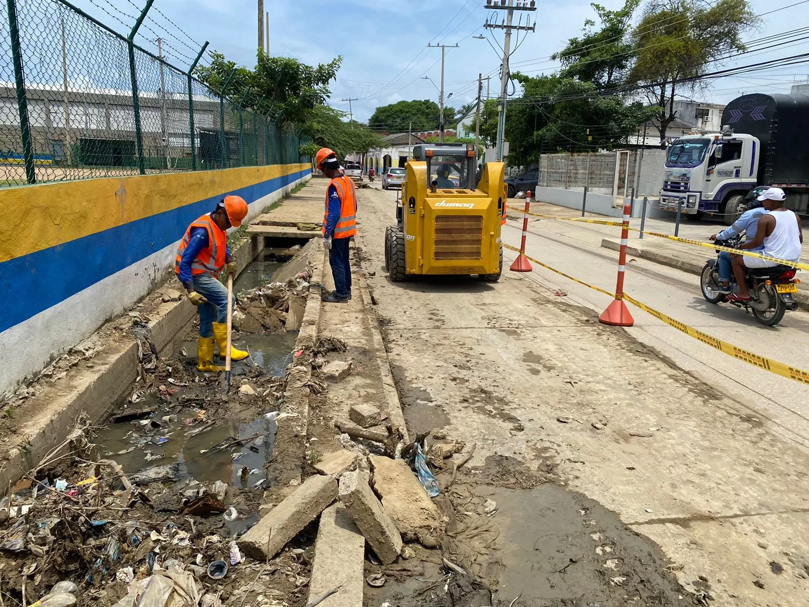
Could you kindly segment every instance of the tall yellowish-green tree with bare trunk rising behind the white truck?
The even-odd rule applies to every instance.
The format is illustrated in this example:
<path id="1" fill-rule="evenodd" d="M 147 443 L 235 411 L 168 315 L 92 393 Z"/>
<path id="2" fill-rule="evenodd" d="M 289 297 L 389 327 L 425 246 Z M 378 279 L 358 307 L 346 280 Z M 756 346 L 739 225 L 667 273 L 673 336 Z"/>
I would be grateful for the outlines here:
<path id="1" fill-rule="evenodd" d="M 710 66 L 743 51 L 741 36 L 758 20 L 748 0 L 719 0 L 713 6 L 700 0 L 651 0 L 646 6 L 633 32 L 636 58 L 627 83 L 643 87 L 656 108 L 661 139 L 676 119 L 676 93 L 693 91 Z"/>

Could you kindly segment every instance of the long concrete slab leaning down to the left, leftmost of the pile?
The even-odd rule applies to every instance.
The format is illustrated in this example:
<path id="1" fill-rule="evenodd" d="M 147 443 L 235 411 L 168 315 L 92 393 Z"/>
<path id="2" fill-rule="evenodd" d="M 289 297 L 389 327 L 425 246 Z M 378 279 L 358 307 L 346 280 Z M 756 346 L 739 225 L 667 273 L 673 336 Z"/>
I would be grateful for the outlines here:
<path id="1" fill-rule="evenodd" d="M 239 539 L 239 548 L 256 560 L 273 558 L 335 499 L 334 478 L 320 475 L 307 478 Z"/>

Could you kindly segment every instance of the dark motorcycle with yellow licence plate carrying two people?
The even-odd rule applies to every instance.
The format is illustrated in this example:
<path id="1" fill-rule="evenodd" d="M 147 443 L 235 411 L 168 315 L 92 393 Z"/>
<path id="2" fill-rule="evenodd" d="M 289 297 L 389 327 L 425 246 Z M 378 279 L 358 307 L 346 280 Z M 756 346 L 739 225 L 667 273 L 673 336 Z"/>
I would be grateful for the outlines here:
<path id="1" fill-rule="evenodd" d="M 728 240 L 715 240 L 720 247 L 738 248 L 742 241 L 741 236 Z M 717 250 L 717 254 L 720 253 Z M 719 261 L 709 259 L 702 268 L 700 287 L 702 296 L 710 304 L 728 302 L 727 295 L 716 292 L 720 287 Z M 795 273 L 798 270 L 789 265 L 773 265 L 771 268 L 748 268 L 745 282 L 750 292 L 750 301 L 733 301 L 729 303 L 736 308 L 744 308 L 752 312 L 756 320 L 762 325 L 773 327 L 781 322 L 787 310 L 794 312 L 798 304 L 792 298 L 798 292 L 798 282 Z M 731 278 L 731 287 L 738 289 Z"/>

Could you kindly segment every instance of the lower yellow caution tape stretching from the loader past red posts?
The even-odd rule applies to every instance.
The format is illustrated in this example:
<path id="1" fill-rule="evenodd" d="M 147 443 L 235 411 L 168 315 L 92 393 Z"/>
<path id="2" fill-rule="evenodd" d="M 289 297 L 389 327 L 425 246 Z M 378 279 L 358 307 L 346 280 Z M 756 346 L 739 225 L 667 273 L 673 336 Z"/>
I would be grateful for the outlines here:
<path id="1" fill-rule="evenodd" d="M 701 243 L 700 243 L 701 244 Z M 508 248 L 512 251 L 516 251 L 519 253 L 519 248 L 512 247 L 510 244 L 503 244 L 505 248 Z M 590 287 L 594 291 L 599 291 L 599 293 L 603 293 L 604 295 L 609 295 L 610 297 L 615 297 L 615 293 L 610 293 L 609 291 L 604 291 L 604 289 L 600 289 L 599 287 L 594 287 L 587 282 L 583 282 L 578 278 L 573 278 L 569 274 L 565 274 L 564 272 L 560 272 L 555 268 L 552 268 L 550 265 L 544 264 L 541 261 L 534 259 L 533 257 L 525 256 L 529 261 L 537 265 L 541 265 L 543 268 L 547 270 L 551 270 L 560 276 L 564 276 L 565 278 L 570 278 L 570 280 L 574 282 L 578 282 L 578 284 L 583 285 L 584 287 Z M 703 333 L 698 329 L 694 329 L 692 326 L 686 325 L 684 322 L 680 322 L 680 320 L 675 320 L 671 318 L 671 316 L 667 316 L 663 314 L 663 312 L 658 312 L 654 308 L 650 308 L 646 304 L 630 297 L 629 295 L 624 294 L 625 301 L 628 301 L 630 304 L 637 306 L 637 308 L 641 308 L 644 312 L 651 314 L 658 320 L 663 320 L 664 323 L 667 325 L 671 325 L 675 329 L 682 331 L 689 337 L 693 337 L 694 339 L 698 339 L 700 342 L 715 348 L 725 354 L 732 356 L 735 359 L 739 359 L 744 363 L 751 364 L 753 367 L 759 367 L 760 369 L 764 369 L 765 371 L 769 371 L 770 373 L 775 373 L 778 376 L 786 377 L 789 380 L 798 381 L 801 384 L 809 385 L 809 371 L 803 371 L 802 369 L 798 369 L 797 367 L 792 367 L 786 363 L 779 363 L 777 360 L 768 359 L 766 356 L 760 356 L 760 354 L 755 354 L 750 352 L 749 350 L 744 350 L 744 348 L 740 348 L 739 346 L 734 346 L 731 343 L 723 342 L 718 337 L 714 337 L 713 335 L 709 335 L 708 333 Z"/>

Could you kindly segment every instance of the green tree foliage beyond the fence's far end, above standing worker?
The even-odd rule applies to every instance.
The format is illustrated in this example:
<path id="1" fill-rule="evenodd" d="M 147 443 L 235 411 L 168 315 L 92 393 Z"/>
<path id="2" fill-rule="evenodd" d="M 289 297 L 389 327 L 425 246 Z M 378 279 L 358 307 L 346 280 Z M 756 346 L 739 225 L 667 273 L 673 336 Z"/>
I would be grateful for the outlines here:
<path id="1" fill-rule="evenodd" d="M 321 147 L 330 147 L 341 158 L 351 152 L 367 152 L 383 146 L 382 138 L 371 129 L 358 122 L 344 122 L 347 112 L 317 105 L 310 114 L 310 120 L 303 127 L 315 145 L 307 147 L 307 151 L 315 151 Z M 314 156 L 315 154 L 310 154 Z"/>

